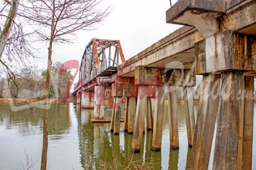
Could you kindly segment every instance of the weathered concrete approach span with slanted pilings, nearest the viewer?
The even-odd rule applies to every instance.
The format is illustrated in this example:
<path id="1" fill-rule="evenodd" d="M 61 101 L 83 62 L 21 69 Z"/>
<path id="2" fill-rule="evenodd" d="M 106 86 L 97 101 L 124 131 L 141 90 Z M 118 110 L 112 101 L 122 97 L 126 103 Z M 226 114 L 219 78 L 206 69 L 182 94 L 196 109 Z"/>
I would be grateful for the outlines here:
<path id="1" fill-rule="evenodd" d="M 179 0 L 171 6 L 167 23 L 184 26 L 108 77 L 114 98 L 111 131 L 119 134 L 119 104 L 125 97 L 124 128 L 133 134 L 132 151 L 140 151 L 145 117 L 147 129 L 153 129 L 152 149 L 160 150 L 165 94 L 170 148 L 179 148 L 176 86 L 182 86 L 188 145 L 193 146 L 189 169 L 208 169 L 215 122 L 213 169 L 252 169 L 255 16 L 254 0 Z M 195 75 L 203 75 L 196 121 Z M 97 104 L 100 98 L 94 100 Z"/>

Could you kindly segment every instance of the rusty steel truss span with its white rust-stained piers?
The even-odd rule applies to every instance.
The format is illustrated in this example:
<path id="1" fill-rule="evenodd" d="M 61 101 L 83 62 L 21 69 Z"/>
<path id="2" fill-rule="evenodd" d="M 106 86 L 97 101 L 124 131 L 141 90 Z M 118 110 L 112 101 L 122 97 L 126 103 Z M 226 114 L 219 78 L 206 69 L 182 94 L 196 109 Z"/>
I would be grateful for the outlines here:
<path id="1" fill-rule="evenodd" d="M 104 118 L 103 99 L 106 88 L 113 82 L 111 75 L 117 72 L 117 65 L 125 61 L 118 40 L 96 39 L 85 48 L 79 69 L 79 82 L 73 95 L 82 108 L 95 109 L 95 118 Z"/>

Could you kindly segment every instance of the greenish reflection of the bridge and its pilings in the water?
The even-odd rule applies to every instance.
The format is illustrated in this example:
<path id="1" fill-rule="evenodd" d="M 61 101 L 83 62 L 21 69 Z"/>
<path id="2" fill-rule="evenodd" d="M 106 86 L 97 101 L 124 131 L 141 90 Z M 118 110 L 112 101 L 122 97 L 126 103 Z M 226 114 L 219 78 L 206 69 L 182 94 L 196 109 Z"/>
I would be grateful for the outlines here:
<path id="1" fill-rule="evenodd" d="M 140 164 L 147 164 L 153 169 L 185 169 L 189 164 L 192 150 L 187 147 L 184 105 L 179 104 L 177 111 L 180 149 L 170 149 L 166 105 L 164 109 L 162 152 L 151 150 L 153 133 L 152 131 L 146 131 L 142 137 L 141 152 L 134 154 L 131 152 L 132 135 L 122 130 L 124 124 L 121 124 L 120 134 L 114 135 L 109 131 L 109 124 L 90 123 L 90 119 L 93 118 L 92 109 L 77 108 L 79 149 L 83 168 L 99 169 L 102 165 L 109 169 L 121 168 L 121 166 L 127 166 L 131 163 L 134 164 L 134 168 Z M 197 112 L 197 106 L 195 112 Z M 108 118 L 108 113 L 105 117 Z"/>

